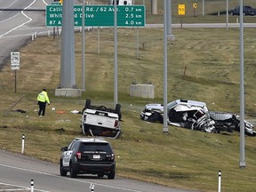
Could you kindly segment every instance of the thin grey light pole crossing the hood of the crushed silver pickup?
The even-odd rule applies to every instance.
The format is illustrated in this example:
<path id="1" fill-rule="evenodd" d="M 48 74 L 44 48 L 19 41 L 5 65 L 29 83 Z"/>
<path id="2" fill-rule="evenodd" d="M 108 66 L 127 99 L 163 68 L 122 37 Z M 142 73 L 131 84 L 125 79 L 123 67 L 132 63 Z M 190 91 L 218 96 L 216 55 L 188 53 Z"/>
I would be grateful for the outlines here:
<path id="1" fill-rule="evenodd" d="M 168 0 L 169 1 L 169 0 Z M 164 127 L 163 132 L 167 133 L 167 0 L 164 0 Z"/>

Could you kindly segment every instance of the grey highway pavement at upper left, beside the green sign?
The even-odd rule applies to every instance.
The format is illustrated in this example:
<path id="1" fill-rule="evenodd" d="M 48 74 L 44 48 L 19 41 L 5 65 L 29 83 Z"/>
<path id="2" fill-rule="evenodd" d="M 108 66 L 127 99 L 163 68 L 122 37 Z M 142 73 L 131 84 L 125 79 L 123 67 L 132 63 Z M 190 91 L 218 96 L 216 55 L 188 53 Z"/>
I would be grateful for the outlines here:
<path id="1" fill-rule="evenodd" d="M 52 0 L 0 0 L 0 68 L 10 58 L 10 53 L 19 51 L 34 33 L 48 33 L 49 28 L 44 24 L 44 12 L 26 10 L 44 10 L 46 4 L 51 3 Z M 15 9 L 24 11 L 14 11 Z"/>

